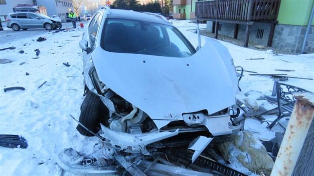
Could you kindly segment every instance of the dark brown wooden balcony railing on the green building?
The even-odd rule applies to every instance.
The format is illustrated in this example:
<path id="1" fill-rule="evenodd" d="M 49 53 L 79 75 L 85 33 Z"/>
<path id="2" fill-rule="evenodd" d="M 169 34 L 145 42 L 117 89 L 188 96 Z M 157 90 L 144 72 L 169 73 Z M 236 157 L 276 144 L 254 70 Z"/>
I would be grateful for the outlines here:
<path id="1" fill-rule="evenodd" d="M 276 20 L 280 0 L 212 0 L 196 2 L 196 18 Z"/>

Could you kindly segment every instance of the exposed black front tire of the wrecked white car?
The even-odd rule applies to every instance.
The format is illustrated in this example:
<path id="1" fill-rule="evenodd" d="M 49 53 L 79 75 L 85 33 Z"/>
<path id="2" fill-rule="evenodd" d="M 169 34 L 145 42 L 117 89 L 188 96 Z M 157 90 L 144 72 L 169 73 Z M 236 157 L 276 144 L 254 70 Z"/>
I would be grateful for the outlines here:
<path id="1" fill-rule="evenodd" d="M 109 110 L 103 104 L 100 97 L 91 91 L 87 90 L 85 99 L 81 105 L 81 114 L 79 122 L 94 133 L 100 130 L 100 123 L 107 125 L 109 117 Z M 77 131 L 84 136 L 93 136 L 80 124 L 76 127 Z"/>

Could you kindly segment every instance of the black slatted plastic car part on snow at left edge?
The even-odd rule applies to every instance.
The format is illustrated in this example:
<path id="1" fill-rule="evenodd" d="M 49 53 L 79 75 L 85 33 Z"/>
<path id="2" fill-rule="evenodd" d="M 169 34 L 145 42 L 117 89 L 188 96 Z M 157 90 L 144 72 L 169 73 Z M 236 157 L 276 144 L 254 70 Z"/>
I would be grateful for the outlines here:
<path id="1" fill-rule="evenodd" d="M 26 139 L 18 135 L 0 134 L 0 146 L 9 148 L 27 148 Z"/>

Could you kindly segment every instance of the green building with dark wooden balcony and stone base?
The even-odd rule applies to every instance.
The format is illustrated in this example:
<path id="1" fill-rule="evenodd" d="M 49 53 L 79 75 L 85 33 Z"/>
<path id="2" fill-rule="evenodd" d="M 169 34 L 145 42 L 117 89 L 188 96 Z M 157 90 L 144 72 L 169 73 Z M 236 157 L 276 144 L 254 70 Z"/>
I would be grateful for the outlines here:
<path id="1" fill-rule="evenodd" d="M 220 34 L 244 41 L 245 47 L 250 41 L 287 53 L 314 53 L 314 0 L 206 0 L 192 1 L 191 8 L 178 3 L 183 4 L 173 0 L 177 19 L 191 19 L 195 12 L 215 38 Z"/>

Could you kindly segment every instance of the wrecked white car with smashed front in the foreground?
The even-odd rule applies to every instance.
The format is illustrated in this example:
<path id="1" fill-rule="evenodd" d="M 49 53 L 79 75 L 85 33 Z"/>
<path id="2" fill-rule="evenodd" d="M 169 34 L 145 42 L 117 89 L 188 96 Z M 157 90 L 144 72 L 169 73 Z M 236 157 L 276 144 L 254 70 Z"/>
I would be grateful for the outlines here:
<path id="1" fill-rule="evenodd" d="M 161 15 L 102 8 L 79 45 L 85 99 L 77 130 L 101 138 L 106 157 L 132 175 L 132 163 L 157 149 L 184 146 L 194 162 L 215 136 L 243 129 L 236 69 L 217 41 L 196 51 Z"/>

